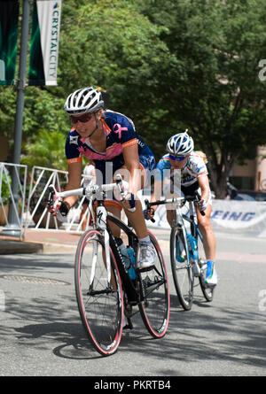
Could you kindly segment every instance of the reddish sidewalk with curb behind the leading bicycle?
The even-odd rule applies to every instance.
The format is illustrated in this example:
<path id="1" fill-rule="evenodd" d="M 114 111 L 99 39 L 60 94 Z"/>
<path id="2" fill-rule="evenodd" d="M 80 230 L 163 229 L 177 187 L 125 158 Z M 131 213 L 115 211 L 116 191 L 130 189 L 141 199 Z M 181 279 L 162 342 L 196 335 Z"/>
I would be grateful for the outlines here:
<path id="1" fill-rule="evenodd" d="M 160 241 L 168 239 L 169 230 L 151 228 Z M 1 236 L 0 255 L 15 253 L 75 253 L 81 233 L 67 233 L 65 230 L 43 230 L 27 228 L 24 240 L 13 236 Z M 167 242 L 168 243 L 168 242 Z"/>

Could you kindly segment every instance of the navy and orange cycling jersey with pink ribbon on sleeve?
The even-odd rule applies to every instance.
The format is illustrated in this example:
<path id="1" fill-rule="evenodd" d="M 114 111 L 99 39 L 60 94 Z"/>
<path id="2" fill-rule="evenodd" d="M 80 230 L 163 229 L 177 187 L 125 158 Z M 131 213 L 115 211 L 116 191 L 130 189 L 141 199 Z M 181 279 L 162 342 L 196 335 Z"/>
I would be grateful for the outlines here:
<path id="1" fill-rule="evenodd" d="M 155 166 L 153 152 L 136 134 L 132 120 L 119 112 L 106 111 L 102 124 L 106 134 L 106 151 L 96 151 L 90 143 L 90 138 L 82 138 L 73 127 L 66 138 L 68 164 L 82 161 L 83 155 L 93 160 L 96 169 L 100 170 L 104 176 L 106 166 L 112 168 L 113 174 L 125 164 L 122 154 L 123 149 L 137 145 L 141 166 L 146 170 L 153 171 Z"/>

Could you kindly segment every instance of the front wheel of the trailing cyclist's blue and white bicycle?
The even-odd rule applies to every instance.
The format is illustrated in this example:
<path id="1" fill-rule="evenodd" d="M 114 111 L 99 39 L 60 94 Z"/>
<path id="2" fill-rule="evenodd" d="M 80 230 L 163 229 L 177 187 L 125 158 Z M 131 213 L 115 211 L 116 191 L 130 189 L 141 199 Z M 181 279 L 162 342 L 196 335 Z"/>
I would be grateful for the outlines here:
<path id="1" fill-rule="evenodd" d="M 170 258 L 177 297 L 184 310 L 189 311 L 192 309 L 193 302 L 194 275 L 184 235 L 185 230 L 183 231 L 181 228 L 175 226 L 171 229 Z M 176 260 L 177 243 L 184 245 L 184 261 Z"/>

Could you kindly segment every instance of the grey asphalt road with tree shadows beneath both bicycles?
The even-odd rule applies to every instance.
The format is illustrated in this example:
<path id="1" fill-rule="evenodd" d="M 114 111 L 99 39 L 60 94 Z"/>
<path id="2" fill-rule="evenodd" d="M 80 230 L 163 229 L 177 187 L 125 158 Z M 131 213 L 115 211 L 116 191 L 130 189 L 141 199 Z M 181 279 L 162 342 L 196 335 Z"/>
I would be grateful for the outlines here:
<path id="1" fill-rule="evenodd" d="M 166 240 L 167 232 L 160 238 Z M 136 318 L 109 358 L 84 336 L 74 254 L 0 256 L 0 375 L 266 375 L 266 240 L 217 235 L 214 301 L 205 302 L 197 286 L 190 312 L 178 305 L 167 243 L 161 245 L 171 293 L 168 334 L 153 340 Z"/>

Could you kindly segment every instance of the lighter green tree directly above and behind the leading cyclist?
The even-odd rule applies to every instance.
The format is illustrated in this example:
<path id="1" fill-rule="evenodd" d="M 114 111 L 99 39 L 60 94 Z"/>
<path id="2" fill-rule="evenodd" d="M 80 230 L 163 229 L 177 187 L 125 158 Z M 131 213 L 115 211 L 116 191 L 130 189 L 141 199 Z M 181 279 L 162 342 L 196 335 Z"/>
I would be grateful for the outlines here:
<path id="1" fill-rule="evenodd" d="M 155 141 L 158 157 L 164 135 L 158 131 L 165 111 L 154 91 L 171 54 L 160 40 L 165 27 L 154 25 L 134 0 L 90 1 L 62 21 L 59 81 L 70 93 L 83 86 L 101 86 L 110 94 L 110 108 L 128 115 L 146 143 Z M 71 45 L 69 45 L 71 42 Z M 163 130 L 164 132 L 164 130 Z M 153 148 L 153 146 L 152 146 Z"/>

